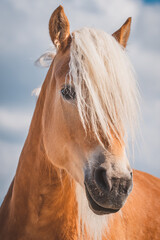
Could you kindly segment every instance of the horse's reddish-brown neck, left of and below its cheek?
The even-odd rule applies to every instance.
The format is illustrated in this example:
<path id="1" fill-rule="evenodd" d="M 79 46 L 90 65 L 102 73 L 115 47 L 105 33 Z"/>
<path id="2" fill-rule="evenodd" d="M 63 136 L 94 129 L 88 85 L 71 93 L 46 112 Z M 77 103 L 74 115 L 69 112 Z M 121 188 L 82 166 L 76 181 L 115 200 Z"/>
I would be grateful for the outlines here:
<path id="1" fill-rule="evenodd" d="M 40 107 L 41 106 L 41 107 Z M 40 99 L 14 181 L 0 210 L 3 239 L 71 239 L 77 229 L 75 184 L 48 160 Z M 26 236 L 26 238 L 25 238 Z"/>

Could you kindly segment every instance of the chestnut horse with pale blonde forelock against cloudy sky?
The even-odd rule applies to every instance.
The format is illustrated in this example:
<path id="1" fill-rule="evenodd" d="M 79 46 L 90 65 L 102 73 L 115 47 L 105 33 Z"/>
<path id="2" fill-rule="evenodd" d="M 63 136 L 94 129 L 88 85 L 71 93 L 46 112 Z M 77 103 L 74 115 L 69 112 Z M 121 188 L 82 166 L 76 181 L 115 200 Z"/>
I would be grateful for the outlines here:
<path id="1" fill-rule="evenodd" d="M 138 108 L 130 23 L 70 34 L 63 7 L 53 12 L 57 53 L 0 209 L 1 240 L 160 239 L 160 180 L 132 172 L 125 153 Z"/>

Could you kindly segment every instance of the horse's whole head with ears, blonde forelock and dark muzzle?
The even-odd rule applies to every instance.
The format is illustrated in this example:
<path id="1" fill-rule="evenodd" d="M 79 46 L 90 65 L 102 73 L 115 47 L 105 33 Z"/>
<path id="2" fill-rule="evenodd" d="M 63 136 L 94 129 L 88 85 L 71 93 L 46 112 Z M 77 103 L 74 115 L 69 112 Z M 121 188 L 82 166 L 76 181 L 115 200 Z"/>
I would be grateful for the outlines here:
<path id="1" fill-rule="evenodd" d="M 126 126 L 135 121 L 137 104 L 124 51 L 130 22 L 113 36 L 88 28 L 70 34 L 61 6 L 49 22 L 57 54 L 41 91 L 44 144 L 53 164 L 85 189 L 96 214 L 117 212 L 132 189 L 125 153 Z"/>

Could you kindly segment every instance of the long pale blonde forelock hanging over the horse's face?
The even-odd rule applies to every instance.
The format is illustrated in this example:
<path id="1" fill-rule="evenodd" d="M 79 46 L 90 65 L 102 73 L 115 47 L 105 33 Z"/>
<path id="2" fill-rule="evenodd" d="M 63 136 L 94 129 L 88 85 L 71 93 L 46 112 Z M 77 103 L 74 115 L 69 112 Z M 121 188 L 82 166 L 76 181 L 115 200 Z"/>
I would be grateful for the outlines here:
<path id="1" fill-rule="evenodd" d="M 111 35 L 91 28 L 72 34 L 69 76 L 75 86 L 84 128 L 91 127 L 99 142 L 120 140 L 137 122 L 138 91 L 125 50 Z M 103 144 L 103 143 L 102 143 Z"/>

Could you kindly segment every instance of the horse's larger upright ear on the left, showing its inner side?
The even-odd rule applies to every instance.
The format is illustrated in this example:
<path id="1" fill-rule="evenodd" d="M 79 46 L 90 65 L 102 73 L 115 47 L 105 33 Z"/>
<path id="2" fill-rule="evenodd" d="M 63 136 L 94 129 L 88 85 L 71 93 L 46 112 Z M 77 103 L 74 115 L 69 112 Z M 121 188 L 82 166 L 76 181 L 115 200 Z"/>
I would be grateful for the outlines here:
<path id="1" fill-rule="evenodd" d="M 64 48 L 70 37 L 69 21 L 60 5 L 52 13 L 49 20 L 49 33 L 51 40 L 57 49 Z"/>

